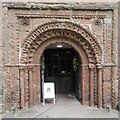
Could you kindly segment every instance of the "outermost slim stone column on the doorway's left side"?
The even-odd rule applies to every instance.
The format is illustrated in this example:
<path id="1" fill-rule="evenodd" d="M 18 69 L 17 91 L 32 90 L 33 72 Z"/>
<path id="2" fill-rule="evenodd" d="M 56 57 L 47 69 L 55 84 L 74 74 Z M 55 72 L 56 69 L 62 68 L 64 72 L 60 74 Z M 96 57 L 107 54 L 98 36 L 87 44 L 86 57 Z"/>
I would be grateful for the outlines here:
<path id="1" fill-rule="evenodd" d="M 20 107 L 24 108 L 24 67 L 20 67 Z"/>

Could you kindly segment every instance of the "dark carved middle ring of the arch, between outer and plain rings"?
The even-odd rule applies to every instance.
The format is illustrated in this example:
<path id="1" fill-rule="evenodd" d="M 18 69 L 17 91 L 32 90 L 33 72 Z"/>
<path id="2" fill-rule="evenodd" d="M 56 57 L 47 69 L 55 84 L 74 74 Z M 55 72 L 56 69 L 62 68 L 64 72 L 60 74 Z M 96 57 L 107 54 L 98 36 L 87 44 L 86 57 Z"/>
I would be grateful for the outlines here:
<path id="1" fill-rule="evenodd" d="M 74 33 L 70 32 L 70 31 L 58 32 L 57 30 L 52 31 L 52 33 L 51 33 L 51 31 L 49 31 L 49 35 L 45 33 L 44 36 L 40 36 L 37 40 L 34 41 L 34 43 L 32 43 L 30 45 L 31 46 L 31 48 L 29 49 L 30 56 L 28 56 L 29 57 L 28 58 L 29 63 L 33 62 L 33 57 L 34 57 L 36 48 L 41 46 L 45 41 L 50 40 L 50 39 L 54 39 L 54 38 L 61 38 L 61 39 L 66 38 L 66 39 L 69 39 L 69 40 L 73 41 L 74 43 L 76 43 L 79 46 L 79 48 L 82 48 L 85 51 L 85 53 L 88 57 L 89 63 L 94 63 L 94 64 L 96 63 L 96 59 L 95 59 L 95 56 L 92 53 L 92 49 L 89 49 L 90 48 L 89 43 L 86 43 L 86 41 L 83 38 L 81 38 L 80 36 L 76 37 L 76 35 L 74 35 Z M 42 39 L 41 37 L 45 38 L 44 42 L 40 42 L 40 39 Z M 74 48 L 74 46 L 73 46 L 73 48 Z"/>

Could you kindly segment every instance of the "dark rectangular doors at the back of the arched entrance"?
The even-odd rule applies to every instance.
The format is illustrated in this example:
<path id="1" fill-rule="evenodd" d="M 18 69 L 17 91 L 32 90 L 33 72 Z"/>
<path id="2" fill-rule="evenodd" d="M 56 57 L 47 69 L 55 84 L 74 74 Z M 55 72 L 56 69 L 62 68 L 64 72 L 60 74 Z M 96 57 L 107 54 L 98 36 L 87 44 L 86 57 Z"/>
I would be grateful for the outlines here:
<path id="1" fill-rule="evenodd" d="M 48 49 L 45 56 L 45 82 L 55 83 L 56 94 L 74 92 L 74 71 L 72 49 Z"/>

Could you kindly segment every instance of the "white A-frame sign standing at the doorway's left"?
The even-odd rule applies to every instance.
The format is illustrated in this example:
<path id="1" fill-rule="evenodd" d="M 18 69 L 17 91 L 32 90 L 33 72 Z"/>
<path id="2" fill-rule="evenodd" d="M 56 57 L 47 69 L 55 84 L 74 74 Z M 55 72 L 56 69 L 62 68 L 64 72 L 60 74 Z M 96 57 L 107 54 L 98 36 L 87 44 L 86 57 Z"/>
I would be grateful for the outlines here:
<path id="1" fill-rule="evenodd" d="M 45 105 L 45 99 L 53 98 L 55 105 L 55 85 L 52 82 L 44 83 L 43 85 L 43 105 Z"/>

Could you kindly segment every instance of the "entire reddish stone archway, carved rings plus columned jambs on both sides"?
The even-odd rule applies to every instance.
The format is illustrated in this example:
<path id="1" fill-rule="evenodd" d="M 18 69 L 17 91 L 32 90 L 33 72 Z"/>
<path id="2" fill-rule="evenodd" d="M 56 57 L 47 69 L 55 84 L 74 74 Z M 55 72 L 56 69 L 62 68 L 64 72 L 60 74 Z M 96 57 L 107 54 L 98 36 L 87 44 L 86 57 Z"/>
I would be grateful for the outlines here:
<path id="1" fill-rule="evenodd" d="M 40 83 L 40 75 L 38 75 L 40 73 L 39 58 L 47 46 L 57 42 L 73 46 L 81 58 L 82 103 L 91 106 L 97 104 L 98 107 L 102 107 L 102 52 L 100 45 L 88 30 L 68 21 L 54 21 L 38 26 L 27 36 L 22 44 L 21 63 L 27 64 L 28 72 L 26 74 L 27 79 L 30 81 L 30 85 L 26 83 L 29 88 L 25 88 L 30 96 L 30 100 L 26 103 L 27 106 L 29 103 L 32 106 L 40 102 L 40 86 L 38 86 Z M 21 69 L 20 76 L 23 76 L 23 71 L 26 71 L 26 69 L 23 67 Z M 36 78 L 35 76 L 38 77 Z M 98 90 L 97 86 L 99 86 Z M 21 96 L 22 107 L 25 105 L 24 101 L 25 99 Z"/>

